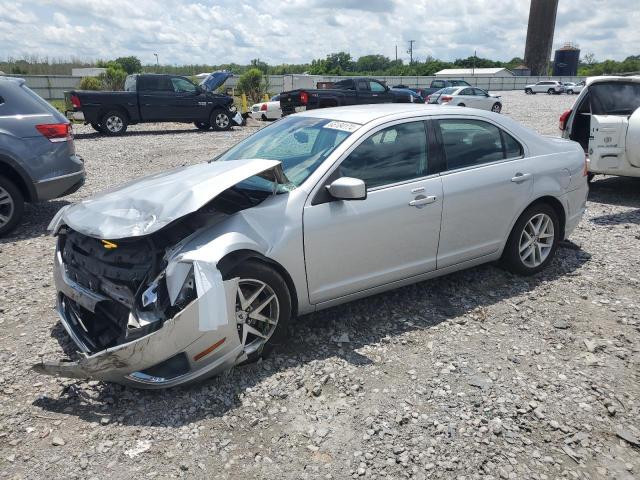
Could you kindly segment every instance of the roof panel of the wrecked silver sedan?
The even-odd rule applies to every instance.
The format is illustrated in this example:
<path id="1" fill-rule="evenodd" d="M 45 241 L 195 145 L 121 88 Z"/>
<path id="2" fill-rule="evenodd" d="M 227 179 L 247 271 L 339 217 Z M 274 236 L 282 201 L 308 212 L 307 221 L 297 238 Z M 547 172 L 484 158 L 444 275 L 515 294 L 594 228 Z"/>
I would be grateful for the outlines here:
<path id="1" fill-rule="evenodd" d="M 383 117 L 396 116 L 398 118 L 418 115 L 461 115 L 487 116 L 483 110 L 463 109 L 443 105 L 425 105 L 415 103 L 382 103 L 378 105 L 351 105 L 348 107 L 332 107 L 308 110 L 297 113 L 297 116 L 324 118 L 341 122 L 365 123 L 373 122 Z"/>

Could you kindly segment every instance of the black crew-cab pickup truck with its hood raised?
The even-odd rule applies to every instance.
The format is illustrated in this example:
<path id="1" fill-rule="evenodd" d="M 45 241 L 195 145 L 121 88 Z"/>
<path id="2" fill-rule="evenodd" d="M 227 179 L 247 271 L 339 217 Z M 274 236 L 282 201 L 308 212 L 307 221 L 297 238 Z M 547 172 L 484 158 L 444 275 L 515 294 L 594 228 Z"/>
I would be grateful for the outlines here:
<path id="1" fill-rule="evenodd" d="M 233 98 L 216 93 L 231 76 L 214 72 L 195 85 L 178 75 L 136 74 L 125 80 L 123 92 L 65 92 L 67 116 L 82 112 L 85 124 L 98 132 L 120 135 L 128 125 L 144 122 L 194 123 L 201 130 L 228 130 L 241 125 Z"/>

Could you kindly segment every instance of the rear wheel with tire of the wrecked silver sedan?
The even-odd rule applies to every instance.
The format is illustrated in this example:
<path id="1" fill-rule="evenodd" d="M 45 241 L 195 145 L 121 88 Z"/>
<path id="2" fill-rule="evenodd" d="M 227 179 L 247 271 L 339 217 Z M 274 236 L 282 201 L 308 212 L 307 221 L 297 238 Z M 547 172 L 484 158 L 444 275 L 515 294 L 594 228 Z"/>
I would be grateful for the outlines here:
<path id="1" fill-rule="evenodd" d="M 542 235 L 545 236 L 541 238 Z M 547 203 L 532 205 L 513 226 L 502 254 L 502 264 L 510 272 L 534 275 L 551 263 L 559 242 L 560 221 L 556 211 Z"/>

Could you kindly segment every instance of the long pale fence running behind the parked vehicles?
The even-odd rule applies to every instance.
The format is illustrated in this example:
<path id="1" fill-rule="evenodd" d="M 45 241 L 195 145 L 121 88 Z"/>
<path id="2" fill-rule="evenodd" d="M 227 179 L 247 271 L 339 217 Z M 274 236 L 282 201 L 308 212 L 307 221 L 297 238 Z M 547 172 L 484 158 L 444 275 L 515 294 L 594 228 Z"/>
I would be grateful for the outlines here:
<path id="1" fill-rule="evenodd" d="M 82 77 L 71 75 L 10 75 L 24 78 L 27 86 L 38 95 L 47 100 L 60 100 L 64 98 L 66 90 L 78 88 Z M 337 82 L 349 77 L 334 77 L 326 75 L 269 75 L 269 91 L 280 93 L 296 88 L 316 88 L 318 82 Z M 541 80 L 559 80 L 561 82 L 579 82 L 584 77 L 376 77 L 386 82 L 389 86 L 406 85 L 410 88 L 429 87 L 431 81 L 455 78 L 466 80 L 473 86 L 484 88 L 485 90 L 523 90 L 525 85 L 536 83 Z M 238 84 L 238 76 L 227 80 L 225 86 L 235 87 Z"/>

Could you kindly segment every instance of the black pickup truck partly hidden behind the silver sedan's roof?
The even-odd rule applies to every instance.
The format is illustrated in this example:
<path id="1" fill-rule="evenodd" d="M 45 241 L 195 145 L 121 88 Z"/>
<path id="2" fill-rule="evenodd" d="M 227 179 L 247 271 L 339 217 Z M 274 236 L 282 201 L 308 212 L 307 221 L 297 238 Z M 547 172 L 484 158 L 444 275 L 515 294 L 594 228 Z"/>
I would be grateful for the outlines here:
<path id="1" fill-rule="evenodd" d="M 411 103 L 407 92 L 390 89 L 373 78 L 348 78 L 327 89 L 298 89 L 280 94 L 282 116 L 315 108 L 368 103 Z"/>

